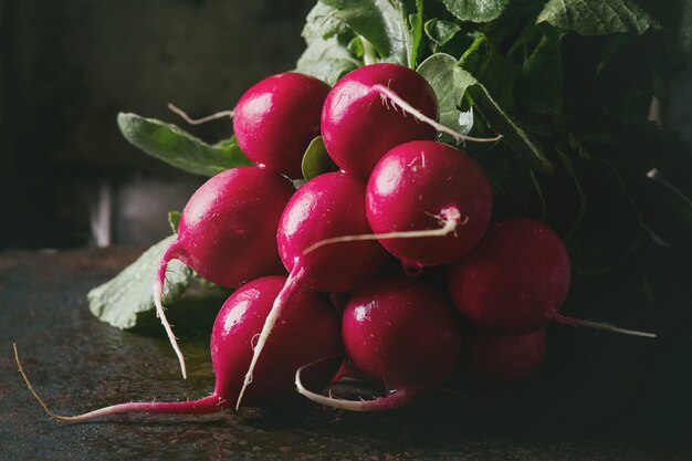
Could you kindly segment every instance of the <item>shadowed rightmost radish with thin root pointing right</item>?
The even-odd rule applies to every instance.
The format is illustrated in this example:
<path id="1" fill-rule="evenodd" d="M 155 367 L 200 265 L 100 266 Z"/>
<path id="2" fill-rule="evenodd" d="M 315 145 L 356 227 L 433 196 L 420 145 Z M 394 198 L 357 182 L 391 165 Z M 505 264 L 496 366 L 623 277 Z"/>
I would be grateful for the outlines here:
<path id="1" fill-rule="evenodd" d="M 562 240 L 543 222 L 528 218 L 493 223 L 481 243 L 447 272 L 454 304 L 485 331 L 523 335 L 554 321 L 656 337 L 560 314 L 569 282 L 569 256 Z"/>

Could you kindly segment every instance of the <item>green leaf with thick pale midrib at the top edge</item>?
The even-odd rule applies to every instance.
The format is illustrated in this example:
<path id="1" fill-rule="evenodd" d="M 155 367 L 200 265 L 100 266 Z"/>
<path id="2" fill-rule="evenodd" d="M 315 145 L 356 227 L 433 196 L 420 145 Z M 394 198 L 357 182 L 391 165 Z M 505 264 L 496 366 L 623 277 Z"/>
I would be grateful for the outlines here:
<path id="1" fill-rule="evenodd" d="M 416 38 L 400 0 L 323 0 L 352 31 L 367 39 L 384 61 L 412 66 Z M 422 32 L 422 31 L 421 31 Z"/>

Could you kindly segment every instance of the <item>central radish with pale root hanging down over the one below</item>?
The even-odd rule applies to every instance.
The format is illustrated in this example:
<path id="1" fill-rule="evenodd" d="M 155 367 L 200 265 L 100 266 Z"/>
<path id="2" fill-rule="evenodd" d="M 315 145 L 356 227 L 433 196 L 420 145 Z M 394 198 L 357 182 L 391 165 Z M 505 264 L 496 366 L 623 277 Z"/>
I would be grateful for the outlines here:
<path id="1" fill-rule="evenodd" d="M 365 216 L 365 184 L 352 175 L 319 175 L 303 185 L 286 205 L 276 240 L 291 275 L 276 296 L 258 339 L 245 378 L 248 385 L 264 342 L 294 290 L 306 284 L 324 292 L 352 291 L 373 279 L 385 265 L 387 252 L 375 241 L 329 245 L 304 254 L 315 242 L 343 233 L 371 233 Z M 242 395 L 241 391 L 239 405 Z"/>

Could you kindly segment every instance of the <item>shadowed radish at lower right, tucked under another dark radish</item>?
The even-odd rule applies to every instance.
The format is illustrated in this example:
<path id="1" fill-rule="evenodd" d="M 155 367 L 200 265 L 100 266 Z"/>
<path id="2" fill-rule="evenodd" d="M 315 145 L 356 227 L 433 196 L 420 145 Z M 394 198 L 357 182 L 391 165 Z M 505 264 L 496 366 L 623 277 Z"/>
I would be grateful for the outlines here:
<path id="1" fill-rule="evenodd" d="M 517 336 L 472 333 L 464 336 L 459 368 L 482 389 L 511 389 L 538 371 L 545 348 L 545 328 Z"/>

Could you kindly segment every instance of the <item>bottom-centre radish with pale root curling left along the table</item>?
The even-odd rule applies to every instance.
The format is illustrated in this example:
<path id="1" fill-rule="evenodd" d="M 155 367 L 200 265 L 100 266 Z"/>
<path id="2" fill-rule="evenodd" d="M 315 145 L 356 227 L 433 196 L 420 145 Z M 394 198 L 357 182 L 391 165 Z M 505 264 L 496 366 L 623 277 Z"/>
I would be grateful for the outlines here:
<path id="1" fill-rule="evenodd" d="M 461 332 L 447 296 L 420 279 L 387 276 L 356 291 L 342 321 L 346 354 L 387 396 L 350 401 L 325 397 L 305 388 L 311 400 L 354 411 L 390 410 L 431 390 L 452 371 Z"/>

